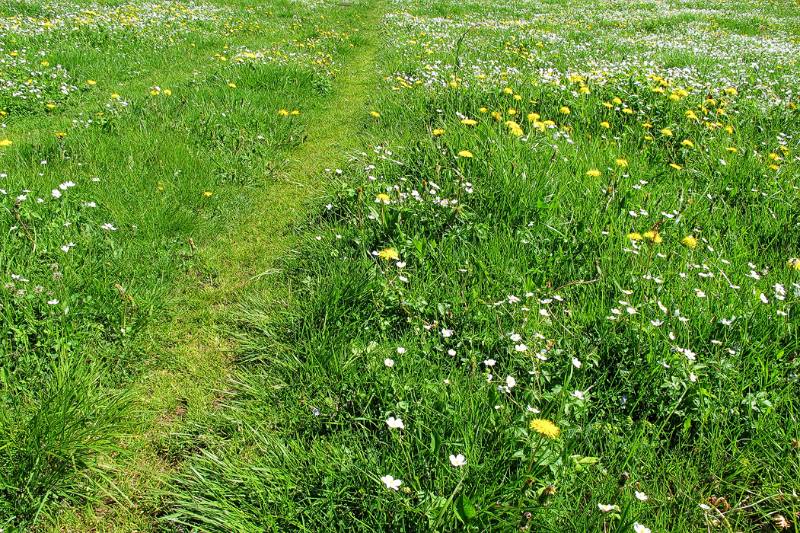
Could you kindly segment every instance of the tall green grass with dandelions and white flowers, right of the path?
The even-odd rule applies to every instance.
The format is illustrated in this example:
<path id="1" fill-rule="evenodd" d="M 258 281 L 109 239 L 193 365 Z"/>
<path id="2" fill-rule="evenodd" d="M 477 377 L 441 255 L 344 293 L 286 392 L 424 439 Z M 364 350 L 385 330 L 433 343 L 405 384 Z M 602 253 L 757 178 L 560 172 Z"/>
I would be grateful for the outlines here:
<path id="1" fill-rule="evenodd" d="M 232 317 L 237 394 L 197 429 L 214 438 L 169 523 L 795 527 L 796 102 L 689 51 L 647 55 L 648 75 L 661 32 L 711 46 L 678 35 L 696 15 L 574 9 L 384 20 L 364 153 L 326 174 L 283 298 Z M 572 33 L 581 17 L 602 29 Z M 666 74 L 683 60 L 697 70 Z"/>

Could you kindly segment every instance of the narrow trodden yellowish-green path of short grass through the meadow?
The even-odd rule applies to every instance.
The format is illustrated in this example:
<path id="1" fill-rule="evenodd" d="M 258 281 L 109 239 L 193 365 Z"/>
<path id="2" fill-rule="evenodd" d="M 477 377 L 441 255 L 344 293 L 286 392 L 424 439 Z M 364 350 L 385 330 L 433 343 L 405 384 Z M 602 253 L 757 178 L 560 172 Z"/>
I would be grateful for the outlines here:
<path id="1" fill-rule="evenodd" d="M 368 109 L 370 87 L 377 82 L 375 56 L 383 14 L 379 2 L 342 2 L 338 9 L 350 19 L 360 38 L 339 65 L 333 88 L 321 104 L 304 115 L 308 128 L 304 142 L 287 153 L 284 171 L 267 184 L 256 208 L 243 222 L 214 242 L 197 243 L 196 252 L 207 265 L 196 283 L 175 301 L 173 318 L 159 328 L 165 335 L 165 366 L 146 373 L 134 386 L 141 431 L 132 435 L 114 471 L 106 504 L 88 512 L 68 511 L 55 530 L 99 528 L 141 531 L 157 527 L 164 512 L 169 476 L 184 456 L 171 456 L 170 443 L 185 440 L 188 428 L 212 410 L 224 409 L 235 379 L 237 346 L 230 327 L 237 303 L 258 291 L 276 302 L 285 295 L 277 276 L 279 260 L 289 253 L 297 235 L 294 228 L 305 206 L 325 187 L 324 171 L 336 168 L 359 147 L 358 130 Z M 195 243 L 192 243 L 195 246 Z M 187 454 L 188 455 L 188 454 Z"/>

